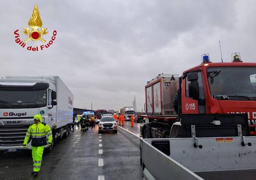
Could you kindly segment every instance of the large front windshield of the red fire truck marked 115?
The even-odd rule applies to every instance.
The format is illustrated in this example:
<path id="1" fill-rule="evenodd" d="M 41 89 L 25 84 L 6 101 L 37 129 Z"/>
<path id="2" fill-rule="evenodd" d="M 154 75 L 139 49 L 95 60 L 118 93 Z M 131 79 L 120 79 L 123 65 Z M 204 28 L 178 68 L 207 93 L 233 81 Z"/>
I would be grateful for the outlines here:
<path id="1" fill-rule="evenodd" d="M 213 98 L 229 100 L 256 99 L 256 67 L 207 68 L 207 76 Z"/>

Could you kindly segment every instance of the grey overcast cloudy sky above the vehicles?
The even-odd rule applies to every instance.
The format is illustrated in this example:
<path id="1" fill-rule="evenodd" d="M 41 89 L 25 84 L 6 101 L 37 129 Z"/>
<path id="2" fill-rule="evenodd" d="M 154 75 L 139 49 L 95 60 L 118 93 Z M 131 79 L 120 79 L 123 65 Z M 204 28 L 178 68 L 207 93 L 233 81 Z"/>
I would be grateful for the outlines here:
<path id="1" fill-rule="evenodd" d="M 47 3 L 46 3 L 47 2 Z M 32 52 L 15 42 L 37 3 L 42 28 L 53 30 L 48 49 Z M 74 94 L 74 107 L 144 106 L 146 81 L 182 74 L 209 53 L 213 62 L 240 52 L 256 61 L 255 0 L 0 0 L 0 77 L 57 75 Z M 47 43 L 46 42 L 46 43 Z M 27 46 L 42 42 L 28 41 Z"/>

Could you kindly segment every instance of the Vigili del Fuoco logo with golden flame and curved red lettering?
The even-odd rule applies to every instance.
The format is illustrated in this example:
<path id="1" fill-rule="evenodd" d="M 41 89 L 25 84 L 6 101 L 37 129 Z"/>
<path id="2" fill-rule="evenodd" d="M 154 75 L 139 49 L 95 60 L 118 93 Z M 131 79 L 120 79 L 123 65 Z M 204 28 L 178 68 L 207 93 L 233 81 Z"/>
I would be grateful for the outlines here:
<path id="1" fill-rule="evenodd" d="M 31 29 L 30 28 L 23 28 L 24 29 L 23 33 L 28 37 L 26 39 L 24 39 L 24 41 L 22 41 L 21 37 L 18 33 L 18 29 L 17 29 L 16 31 L 14 31 L 15 42 L 17 44 L 19 44 L 22 48 L 26 48 L 29 51 L 39 51 L 39 50 L 42 51 L 46 48 L 49 48 L 52 45 L 55 38 L 56 38 L 56 35 L 57 35 L 56 30 L 54 30 L 52 32 L 52 38 L 48 43 L 43 44 L 39 47 L 38 46 L 36 46 L 36 47 L 26 46 L 26 42 L 28 42 L 30 40 L 31 41 L 38 41 L 39 40 L 39 41 L 42 41 L 42 43 L 46 42 L 43 37 L 44 37 L 44 35 L 47 35 L 48 31 L 47 31 L 47 28 L 41 28 L 42 25 L 43 25 L 43 23 L 42 23 L 42 20 L 40 18 L 40 13 L 39 13 L 39 10 L 38 10 L 37 4 L 36 4 L 35 7 L 34 7 L 32 16 L 29 19 L 29 27 Z"/>

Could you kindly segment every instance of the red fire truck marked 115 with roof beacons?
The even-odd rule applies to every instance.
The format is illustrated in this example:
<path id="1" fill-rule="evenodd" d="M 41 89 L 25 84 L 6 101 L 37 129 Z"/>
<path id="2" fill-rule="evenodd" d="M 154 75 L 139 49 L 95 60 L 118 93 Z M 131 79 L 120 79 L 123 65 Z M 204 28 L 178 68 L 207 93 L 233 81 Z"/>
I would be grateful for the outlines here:
<path id="1" fill-rule="evenodd" d="M 256 63 L 241 61 L 240 53 L 225 63 L 212 63 L 209 54 L 204 54 L 200 65 L 180 77 L 159 74 L 147 82 L 145 96 L 144 117 L 149 123 L 141 127 L 143 138 L 171 137 L 172 125 L 182 125 L 182 114 L 189 114 L 190 119 L 197 119 L 197 114 L 243 114 L 251 136 L 256 135 Z"/>

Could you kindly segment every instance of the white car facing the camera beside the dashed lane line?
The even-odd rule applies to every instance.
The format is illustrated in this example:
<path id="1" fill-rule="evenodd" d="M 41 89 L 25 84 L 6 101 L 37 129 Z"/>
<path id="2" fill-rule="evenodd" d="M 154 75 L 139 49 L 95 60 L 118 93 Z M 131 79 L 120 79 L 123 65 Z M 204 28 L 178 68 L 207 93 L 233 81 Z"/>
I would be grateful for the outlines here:
<path id="1" fill-rule="evenodd" d="M 115 122 L 113 116 L 102 116 L 99 121 L 99 133 L 102 131 L 114 131 L 118 132 L 118 124 Z"/>

